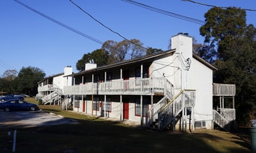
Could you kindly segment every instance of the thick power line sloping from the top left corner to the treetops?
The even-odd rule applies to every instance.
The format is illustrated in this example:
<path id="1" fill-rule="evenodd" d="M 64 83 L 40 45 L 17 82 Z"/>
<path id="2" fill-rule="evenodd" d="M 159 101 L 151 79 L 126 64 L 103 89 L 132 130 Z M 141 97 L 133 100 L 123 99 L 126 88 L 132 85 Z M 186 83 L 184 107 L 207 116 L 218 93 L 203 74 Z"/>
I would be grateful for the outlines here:
<path id="1" fill-rule="evenodd" d="M 17 1 L 17 0 L 14 0 L 14 1 L 16 1 L 17 3 L 20 3 L 22 6 L 24 6 L 25 8 L 28 8 L 29 10 L 32 10 L 33 12 L 37 13 L 38 15 L 41 15 L 41 16 L 45 17 L 46 19 L 49 19 L 49 20 L 51 20 L 52 22 L 63 26 L 64 28 L 66 28 L 66 29 L 68 29 L 68 30 L 70 30 L 70 31 L 73 31 L 73 32 L 75 32 L 75 33 L 77 33 L 77 34 L 79 34 L 79 35 L 84 36 L 85 38 L 88 38 L 88 39 L 90 39 L 90 40 L 93 40 L 94 42 L 99 43 L 100 45 L 103 45 L 103 42 L 100 41 L 100 40 L 97 40 L 96 38 L 93 38 L 93 37 L 91 37 L 91 36 L 89 36 L 89 35 L 86 35 L 85 33 L 82 33 L 82 32 L 80 32 L 80 31 L 77 31 L 76 29 L 73 29 L 72 27 L 70 27 L 70 26 L 68 26 L 68 25 L 66 25 L 66 24 L 63 24 L 63 23 L 57 21 L 56 19 L 53 19 L 52 17 L 49 17 L 49 16 L 47 16 L 47 15 L 45 15 L 45 14 L 43 14 L 43 13 L 40 13 L 38 10 L 36 10 L 36 9 L 34 9 L 34 8 L 31 8 L 30 6 L 27 6 L 26 4 L 24 4 L 24 3 L 20 2 L 20 1 Z"/>

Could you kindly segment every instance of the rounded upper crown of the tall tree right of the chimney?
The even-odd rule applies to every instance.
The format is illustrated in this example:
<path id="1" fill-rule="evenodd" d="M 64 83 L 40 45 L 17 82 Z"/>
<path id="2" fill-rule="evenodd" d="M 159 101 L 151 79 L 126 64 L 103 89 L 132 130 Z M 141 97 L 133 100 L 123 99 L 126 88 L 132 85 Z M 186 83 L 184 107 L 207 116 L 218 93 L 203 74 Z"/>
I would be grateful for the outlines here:
<path id="1" fill-rule="evenodd" d="M 243 35 L 246 28 L 246 11 L 239 8 L 211 8 L 205 15 L 206 24 L 200 27 L 204 42 L 218 45 L 218 58 L 227 60 L 232 41 Z"/>

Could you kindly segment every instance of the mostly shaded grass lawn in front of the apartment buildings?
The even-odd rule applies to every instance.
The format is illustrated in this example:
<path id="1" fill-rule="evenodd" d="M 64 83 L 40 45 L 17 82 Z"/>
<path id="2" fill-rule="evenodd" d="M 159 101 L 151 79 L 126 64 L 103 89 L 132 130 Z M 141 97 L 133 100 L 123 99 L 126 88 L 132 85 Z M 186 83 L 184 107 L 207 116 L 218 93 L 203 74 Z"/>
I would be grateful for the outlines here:
<path id="1" fill-rule="evenodd" d="M 26 100 L 38 104 L 33 98 Z M 17 129 L 16 152 L 251 152 L 248 129 L 236 134 L 206 129 L 193 134 L 158 132 L 63 111 L 59 106 L 40 108 L 80 123 Z M 0 152 L 12 152 L 10 130 L 0 129 Z"/>

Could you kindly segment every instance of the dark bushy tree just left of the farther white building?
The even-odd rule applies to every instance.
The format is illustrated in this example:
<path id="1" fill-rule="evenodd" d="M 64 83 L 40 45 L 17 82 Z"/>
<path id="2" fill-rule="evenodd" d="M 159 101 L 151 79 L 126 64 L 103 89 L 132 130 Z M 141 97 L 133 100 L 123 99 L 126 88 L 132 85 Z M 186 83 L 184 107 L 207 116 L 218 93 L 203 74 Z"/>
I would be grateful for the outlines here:
<path id="1" fill-rule="evenodd" d="M 44 79 L 45 72 L 38 67 L 22 67 L 15 83 L 17 83 L 17 92 L 26 95 L 35 96 L 38 93 L 38 81 Z"/>

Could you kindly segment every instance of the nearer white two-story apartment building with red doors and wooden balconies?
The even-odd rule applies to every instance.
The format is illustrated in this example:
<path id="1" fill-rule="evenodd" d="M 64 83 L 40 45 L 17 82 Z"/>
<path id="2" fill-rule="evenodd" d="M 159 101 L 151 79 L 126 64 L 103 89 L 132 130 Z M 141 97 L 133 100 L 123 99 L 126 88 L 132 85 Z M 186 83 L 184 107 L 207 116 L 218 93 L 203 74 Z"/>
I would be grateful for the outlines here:
<path id="1" fill-rule="evenodd" d="M 234 96 L 234 85 L 213 83 L 217 68 L 194 54 L 192 46 L 192 38 L 179 33 L 172 37 L 172 49 L 160 54 L 102 67 L 86 63 L 82 72 L 61 75 L 67 82 L 63 95 L 72 99 L 73 111 L 158 130 L 227 127 L 235 113 L 234 105 L 225 108 L 224 96 Z M 49 85 L 47 81 L 40 81 L 38 88 Z M 213 96 L 220 96 L 218 111 L 213 111 Z"/>

